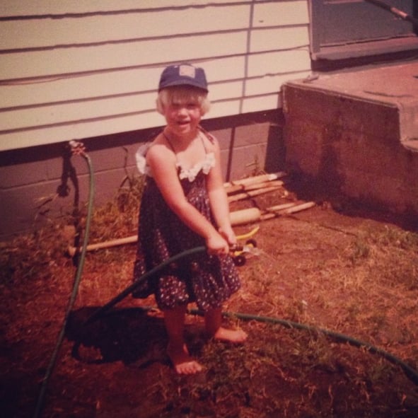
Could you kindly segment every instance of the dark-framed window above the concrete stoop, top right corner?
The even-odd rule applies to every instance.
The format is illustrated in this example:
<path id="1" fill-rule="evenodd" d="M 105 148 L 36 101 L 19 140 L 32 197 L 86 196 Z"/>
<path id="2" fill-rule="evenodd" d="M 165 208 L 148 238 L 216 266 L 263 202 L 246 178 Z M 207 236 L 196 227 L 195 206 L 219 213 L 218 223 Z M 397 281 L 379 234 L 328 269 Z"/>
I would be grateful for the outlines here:
<path id="1" fill-rule="evenodd" d="M 418 1 L 385 3 L 413 17 L 418 14 Z M 311 0 L 309 8 L 313 62 L 418 52 L 417 27 L 368 1 Z"/>

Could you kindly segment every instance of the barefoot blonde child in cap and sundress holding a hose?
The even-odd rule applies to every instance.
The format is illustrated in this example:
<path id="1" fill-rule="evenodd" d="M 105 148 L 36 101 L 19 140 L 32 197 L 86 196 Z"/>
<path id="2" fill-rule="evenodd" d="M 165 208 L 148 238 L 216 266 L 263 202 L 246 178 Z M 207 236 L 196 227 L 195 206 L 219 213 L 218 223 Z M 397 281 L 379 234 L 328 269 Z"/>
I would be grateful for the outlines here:
<path id="1" fill-rule="evenodd" d="M 207 334 L 243 342 L 243 330 L 221 326 L 222 303 L 240 287 L 228 255 L 236 236 L 221 174 L 218 141 L 200 127 L 209 110 L 204 70 L 190 64 L 168 66 L 158 86 L 157 110 L 166 118 L 161 134 L 137 151 L 146 175 L 139 211 L 139 239 L 134 279 L 173 255 L 206 245 L 207 252 L 180 260 L 151 277 L 133 296 L 156 297 L 168 333 L 167 353 L 177 373 L 192 374 L 202 366 L 192 359 L 183 331 L 187 303 L 204 311 Z"/>

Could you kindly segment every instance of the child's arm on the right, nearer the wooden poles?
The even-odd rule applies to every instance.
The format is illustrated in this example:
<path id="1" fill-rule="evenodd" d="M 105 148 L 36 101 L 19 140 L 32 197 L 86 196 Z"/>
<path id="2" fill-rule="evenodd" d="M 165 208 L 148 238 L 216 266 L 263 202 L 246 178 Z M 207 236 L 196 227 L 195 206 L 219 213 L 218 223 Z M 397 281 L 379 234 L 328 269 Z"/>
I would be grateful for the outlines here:
<path id="1" fill-rule="evenodd" d="M 223 177 L 221 171 L 221 151 L 219 142 L 214 139 L 213 151 L 215 154 L 215 166 L 210 170 L 207 177 L 207 190 L 209 194 L 209 202 L 211 211 L 214 215 L 219 233 L 225 238 L 230 245 L 236 243 L 236 236 L 231 226 L 229 217 L 229 203 L 226 195 L 225 187 L 223 187 Z"/>

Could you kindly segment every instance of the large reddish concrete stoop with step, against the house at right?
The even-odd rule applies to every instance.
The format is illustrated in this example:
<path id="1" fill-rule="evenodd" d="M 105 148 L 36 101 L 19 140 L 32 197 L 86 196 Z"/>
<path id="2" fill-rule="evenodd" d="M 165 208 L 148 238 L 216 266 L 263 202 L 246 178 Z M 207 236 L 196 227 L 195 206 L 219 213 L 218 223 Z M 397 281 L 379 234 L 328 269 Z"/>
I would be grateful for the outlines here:
<path id="1" fill-rule="evenodd" d="M 289 168 L 418 216 L 418 60 L 291 81 L 283 103 Z"/>

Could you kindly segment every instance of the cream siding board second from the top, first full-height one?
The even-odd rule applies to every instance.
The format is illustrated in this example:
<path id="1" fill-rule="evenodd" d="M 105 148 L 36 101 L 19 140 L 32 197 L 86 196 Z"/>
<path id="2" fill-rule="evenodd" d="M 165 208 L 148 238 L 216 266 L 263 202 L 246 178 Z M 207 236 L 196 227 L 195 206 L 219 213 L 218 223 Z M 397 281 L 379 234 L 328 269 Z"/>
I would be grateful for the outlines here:
<path id="1" fill-rule="evenodd" d="M 170 13 L 141 12 L 119 16 L 6 21 L 0 25 L 0 49 L 18 50 L 141 40 L 248 28 L 250 6 L 187 8 Z M 210 25 L 207 24 L 210 22 Z M 25 30 L 22 30 L 24 24 Z"/>

